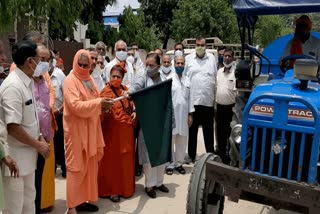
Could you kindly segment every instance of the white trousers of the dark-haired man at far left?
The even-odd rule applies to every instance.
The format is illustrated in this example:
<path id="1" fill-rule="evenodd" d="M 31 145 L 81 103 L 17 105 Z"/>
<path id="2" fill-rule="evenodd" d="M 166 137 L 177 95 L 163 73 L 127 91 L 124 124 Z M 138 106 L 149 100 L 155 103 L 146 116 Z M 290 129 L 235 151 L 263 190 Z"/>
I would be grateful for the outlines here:
<path id="1" fill-rule="evenodd" d="M 36 212 L 34 172 L 19 178 L 4 176 L 3 190 L 5 199 L 3 214 L 34 214 Z"/>

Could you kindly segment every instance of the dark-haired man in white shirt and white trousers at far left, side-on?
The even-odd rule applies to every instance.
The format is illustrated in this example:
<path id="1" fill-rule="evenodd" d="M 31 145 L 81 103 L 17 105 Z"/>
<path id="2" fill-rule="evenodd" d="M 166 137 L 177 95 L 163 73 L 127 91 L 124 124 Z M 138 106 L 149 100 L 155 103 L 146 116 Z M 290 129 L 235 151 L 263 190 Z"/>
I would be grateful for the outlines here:
<path id="1" fill-rule="evenodd" d="M 9 155 L 17 161 L 20 176 L 12 178 L 5 169 L 3 213 L 34 214 L 38 153 L 44 158 L 50 154 L 49 144 L 40 133 L 35 106 L 32 75 L 41 65 L 37 45 L 31 41 L 14 45 L 12 58 L 17 67 L 0 87 L 0 119 L 7 126 Z"/>

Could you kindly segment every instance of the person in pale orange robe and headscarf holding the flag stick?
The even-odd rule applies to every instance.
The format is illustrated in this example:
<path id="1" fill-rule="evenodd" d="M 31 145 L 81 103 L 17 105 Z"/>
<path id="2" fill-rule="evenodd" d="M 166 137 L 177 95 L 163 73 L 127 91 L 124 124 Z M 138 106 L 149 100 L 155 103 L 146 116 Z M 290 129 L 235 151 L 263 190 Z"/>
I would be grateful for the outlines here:
<path id="1" fill-rule="evenodd" d="M 91 63 L 90 53 L 79 50 L 73 60 L 73 71 L 64 82 L 68 214 L 99 210 L 89 202 L 98 200 L 98 161 L 104 147 L 100 114 L 112 104 L 99 97 L 90 77 Z"/>

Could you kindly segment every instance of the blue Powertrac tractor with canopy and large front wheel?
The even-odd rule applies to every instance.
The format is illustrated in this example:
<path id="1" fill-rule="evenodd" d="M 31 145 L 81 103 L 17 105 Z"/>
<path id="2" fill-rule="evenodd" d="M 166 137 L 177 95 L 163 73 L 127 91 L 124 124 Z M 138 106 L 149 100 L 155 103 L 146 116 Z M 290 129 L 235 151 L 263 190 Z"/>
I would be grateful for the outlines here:
<path id="1" fill-rule="evenodd" d="M 320 213 L 320 84 L 318 62 L 309 55 L 279 59 L 292 35 L 263 53 L 253 46 L 259 15 L 320 12 L 319 0 L 235 0 L 242 56 L 260 58 L 236 68 L 239 97 L 230 136 L 232 164 L 205 154 L 190 178 L 188 214 L 222 214 L 225 198 L 248 200 L 275 209 Z M 314 34 L 319 37 L 319 34 Z M 294 69 L 286 68 L 295 60 Z"/>

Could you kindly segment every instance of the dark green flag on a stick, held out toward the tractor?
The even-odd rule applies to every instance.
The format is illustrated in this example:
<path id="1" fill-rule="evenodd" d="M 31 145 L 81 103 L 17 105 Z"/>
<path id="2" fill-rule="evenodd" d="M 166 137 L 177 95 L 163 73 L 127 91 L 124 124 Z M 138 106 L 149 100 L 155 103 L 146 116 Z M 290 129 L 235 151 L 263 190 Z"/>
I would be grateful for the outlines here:
<path id="1" fill-rule="evenodd" d="M 171 161 L 172 80 L 130 94 L 152 167 Z"/>

